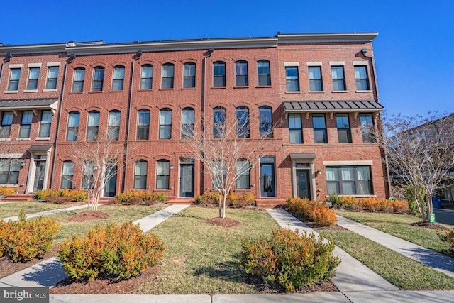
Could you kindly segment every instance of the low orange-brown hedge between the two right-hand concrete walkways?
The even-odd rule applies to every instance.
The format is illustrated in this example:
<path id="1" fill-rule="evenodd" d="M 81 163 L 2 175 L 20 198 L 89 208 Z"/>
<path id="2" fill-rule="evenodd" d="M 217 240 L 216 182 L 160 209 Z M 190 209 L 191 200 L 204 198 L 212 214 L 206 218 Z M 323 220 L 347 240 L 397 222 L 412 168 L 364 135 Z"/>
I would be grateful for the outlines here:
<path id="1" fill-rule="evenodd" d="M 287 199 L 287 207 L 291 211 L 295 211 L 321 226 L 335 225 L 338 221 L 336 213 L 332 209 L 329 209 L 326 204 L 306 198 L 289 198 Z"/>

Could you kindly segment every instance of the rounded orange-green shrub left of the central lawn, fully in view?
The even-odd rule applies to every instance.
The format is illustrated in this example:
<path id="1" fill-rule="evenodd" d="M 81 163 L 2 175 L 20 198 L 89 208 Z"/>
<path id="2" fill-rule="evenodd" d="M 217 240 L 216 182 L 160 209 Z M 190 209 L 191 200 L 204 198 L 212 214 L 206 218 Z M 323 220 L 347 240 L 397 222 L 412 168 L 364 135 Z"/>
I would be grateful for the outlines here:
<path id="1" fill-rule="evenodd" d="M 165 245 L 153 233 L 144 234 L 131 222 L 121 226 L 99 224 L 84 237 L 67 239 L 58 258 L 70 277 L 93 281 L 96 277 L 126 279 L 152 268 L 162 258 Z"/>

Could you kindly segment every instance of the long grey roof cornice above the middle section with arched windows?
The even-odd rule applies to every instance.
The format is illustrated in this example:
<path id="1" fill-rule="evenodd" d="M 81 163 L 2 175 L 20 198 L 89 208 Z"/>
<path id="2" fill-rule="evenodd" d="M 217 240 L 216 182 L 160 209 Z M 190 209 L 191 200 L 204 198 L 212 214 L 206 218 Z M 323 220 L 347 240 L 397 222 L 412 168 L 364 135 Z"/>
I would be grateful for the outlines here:
<path id="1" fill-rule="evenodd" d="M 203 50 L 208 48 L 275 48 L 277 38 L 228 38 L 228 39 L 199 39 L 199 40 L 170 40 L 133 43 L 112 43 L 100 45 L 67 46 L 67 53 L 74 55 L 91 55 L 106 53 L 135 53 L 138 50 L 168 51 L 168 50 Z"/>

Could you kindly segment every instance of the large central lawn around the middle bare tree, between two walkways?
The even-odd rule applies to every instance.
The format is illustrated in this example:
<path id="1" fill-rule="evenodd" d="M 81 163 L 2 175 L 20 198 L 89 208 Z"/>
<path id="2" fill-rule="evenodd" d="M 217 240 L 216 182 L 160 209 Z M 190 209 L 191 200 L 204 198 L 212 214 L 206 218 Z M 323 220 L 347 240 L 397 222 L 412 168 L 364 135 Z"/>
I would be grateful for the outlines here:
<path id="1" fill-rule="evenodd" d="M 218 209 L 190 207 L 153 228 L 167 249 L 155 279 L 137 285 L 145 294 L 231 294 L 257 292 L 238 267 L 243 238 L 270 236 L 279 228 L 265 211 L 227 209 L 226 217 L 240 226 L 206 223 Z"/>

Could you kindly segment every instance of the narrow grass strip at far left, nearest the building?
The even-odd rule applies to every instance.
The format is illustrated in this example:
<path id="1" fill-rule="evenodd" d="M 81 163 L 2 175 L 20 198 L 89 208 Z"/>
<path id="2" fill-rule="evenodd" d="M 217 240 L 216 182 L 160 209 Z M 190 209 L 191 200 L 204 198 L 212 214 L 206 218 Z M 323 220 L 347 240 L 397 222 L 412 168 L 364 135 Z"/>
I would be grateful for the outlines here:
<path id="1" fill-rule="evenodd" d="M 26 214 L 34 214 L 41 211 L 50 211 L 52 209 L 64 209 L 66 207 L 79 205 L 74 204 L 51 204 L 44 202 L 18 202 L 18 203 L 0 203 L 0 219 L 17 216 L 19 211 L 23 210 Z"/>

